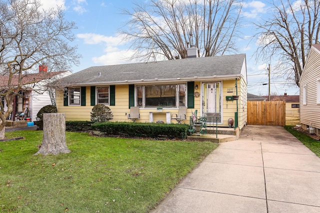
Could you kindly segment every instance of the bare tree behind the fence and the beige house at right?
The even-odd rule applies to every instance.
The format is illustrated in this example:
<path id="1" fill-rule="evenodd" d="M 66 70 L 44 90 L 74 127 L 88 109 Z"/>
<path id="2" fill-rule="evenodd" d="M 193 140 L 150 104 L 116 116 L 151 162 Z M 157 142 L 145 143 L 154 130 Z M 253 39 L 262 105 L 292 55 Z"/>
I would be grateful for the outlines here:
<path id="1" fill-rule="evenodd" d="M 298 85 L 310 46 L 319 42 L 319 0 L 277 0 L 269 19 L 256 23 L 258 58 L 276 58 L 283 75 Z"/>

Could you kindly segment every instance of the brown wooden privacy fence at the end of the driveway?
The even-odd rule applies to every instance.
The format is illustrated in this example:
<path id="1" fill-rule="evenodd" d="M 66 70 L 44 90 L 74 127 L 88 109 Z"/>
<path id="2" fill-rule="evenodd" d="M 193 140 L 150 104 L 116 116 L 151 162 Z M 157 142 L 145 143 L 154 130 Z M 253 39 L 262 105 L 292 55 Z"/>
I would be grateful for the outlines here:
<path id="1" fill-rule="evenodd" d="M 247 124 L 285 126 L 285 101 L 248 101 Z"/>

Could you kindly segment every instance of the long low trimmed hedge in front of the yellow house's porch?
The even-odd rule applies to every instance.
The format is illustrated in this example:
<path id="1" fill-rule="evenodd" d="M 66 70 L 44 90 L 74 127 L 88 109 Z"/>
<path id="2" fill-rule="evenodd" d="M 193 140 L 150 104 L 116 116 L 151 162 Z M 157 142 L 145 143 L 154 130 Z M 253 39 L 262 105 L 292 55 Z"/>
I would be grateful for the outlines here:
<path id="1" fill-rule="evenodd" d="M 185 139 L 188 125 L 132 122 L 105 122 L 92 124 L 92 129 L 106 136 Z"/>

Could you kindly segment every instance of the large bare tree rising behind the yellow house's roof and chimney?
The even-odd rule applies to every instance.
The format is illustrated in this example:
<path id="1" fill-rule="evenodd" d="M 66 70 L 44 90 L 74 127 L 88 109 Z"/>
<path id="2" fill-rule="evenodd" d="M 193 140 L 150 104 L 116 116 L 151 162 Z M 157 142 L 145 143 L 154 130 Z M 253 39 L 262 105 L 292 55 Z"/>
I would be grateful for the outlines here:
<path id="1" fill-rule="evenodd" d="M 190 45 L 199 56 L 236 52 L 240 27 L 238 0 L 151 0 L 122 10 L 130 20 L 120 31 L 132 41 L 132 58 L 186 58 Z"/>

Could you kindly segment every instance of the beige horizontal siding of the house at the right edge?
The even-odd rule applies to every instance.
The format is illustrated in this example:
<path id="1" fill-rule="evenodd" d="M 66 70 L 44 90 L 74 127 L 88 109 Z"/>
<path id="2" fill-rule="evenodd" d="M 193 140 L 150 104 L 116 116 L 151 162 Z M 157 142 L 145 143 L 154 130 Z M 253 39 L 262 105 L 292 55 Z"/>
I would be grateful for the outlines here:
<path id="1" fill-rule="evenodd" d="M 310 49 L 303 69 L 300 87 L 300 122 L 320 129 L 320 104 L 316 103 L 316 80 L 320 78 L 320 53 Z M 303 105 L 303 86 L 306 85 L 306 105 Z"/>

